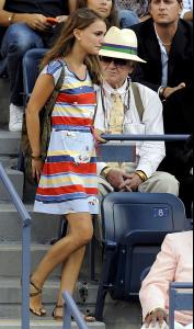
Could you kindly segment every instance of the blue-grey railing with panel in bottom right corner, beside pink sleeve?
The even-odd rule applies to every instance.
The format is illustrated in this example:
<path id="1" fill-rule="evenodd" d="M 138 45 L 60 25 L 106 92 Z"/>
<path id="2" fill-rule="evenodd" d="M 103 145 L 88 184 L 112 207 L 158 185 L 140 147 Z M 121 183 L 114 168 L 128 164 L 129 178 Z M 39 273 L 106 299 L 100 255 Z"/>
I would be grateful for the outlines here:
<path id="1" fill-rule="evenodd" d="M 174 311 L 175 310 L 193 310 L 193 283 L 170 284 L 170 328 L 174 329 Z"/>

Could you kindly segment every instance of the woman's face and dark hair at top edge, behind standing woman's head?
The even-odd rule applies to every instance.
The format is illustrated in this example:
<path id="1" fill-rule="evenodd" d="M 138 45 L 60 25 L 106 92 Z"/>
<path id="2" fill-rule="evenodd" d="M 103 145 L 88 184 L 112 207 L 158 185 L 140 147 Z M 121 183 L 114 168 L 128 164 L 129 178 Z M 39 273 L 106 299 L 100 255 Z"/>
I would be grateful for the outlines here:
<path id="1" fill-rule="evenodd" d="M 106 20 L 107 26 L 118 26 L 118 16 L 115 0 L 78 0 L 77 9 L 89 8 Z"/>

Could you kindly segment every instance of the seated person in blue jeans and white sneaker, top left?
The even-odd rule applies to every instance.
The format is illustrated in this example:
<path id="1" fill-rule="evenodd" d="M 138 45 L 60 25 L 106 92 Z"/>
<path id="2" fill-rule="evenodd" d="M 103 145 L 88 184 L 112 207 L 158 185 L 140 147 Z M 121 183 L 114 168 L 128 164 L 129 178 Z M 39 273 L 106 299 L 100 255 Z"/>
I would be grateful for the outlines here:
<path id="1" fill-rule="evenodd" d="M 68 15 L 68 3 L 75 0 L 1 0 L 0 29 L 1 45 L 0 75 L 7 69 L 10 80 L 11 132 L 21 132 L 23 117 L 22 59 L 31 48 L 47 48 L 53 44 L 58 29 L 47 18 Z M 71 8 L 71 7 L 70 7 Z M 59 21 L 59 20 L 58 20 Z"/>

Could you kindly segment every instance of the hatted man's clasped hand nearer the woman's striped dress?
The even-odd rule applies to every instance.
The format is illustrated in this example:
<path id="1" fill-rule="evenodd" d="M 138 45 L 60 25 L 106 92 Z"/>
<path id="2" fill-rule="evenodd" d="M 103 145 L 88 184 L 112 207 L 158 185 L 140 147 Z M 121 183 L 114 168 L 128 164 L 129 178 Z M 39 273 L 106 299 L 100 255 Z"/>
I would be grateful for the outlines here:
<path id="1" fill-rule="evenodd" d="M 125 180 L 129 178 L 129 174 L 125 173 L 125 171 L 119 169 L 112 169 L 106 175 L 107 182 L 118 191 L 122 191 L 122 186 L 125 183 Z"/>

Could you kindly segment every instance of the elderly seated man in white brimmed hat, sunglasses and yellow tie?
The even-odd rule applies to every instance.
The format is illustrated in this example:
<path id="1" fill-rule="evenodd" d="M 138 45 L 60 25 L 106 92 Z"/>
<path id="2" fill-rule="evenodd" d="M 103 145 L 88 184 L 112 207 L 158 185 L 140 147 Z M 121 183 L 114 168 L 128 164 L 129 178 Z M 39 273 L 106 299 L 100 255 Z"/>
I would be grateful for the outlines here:
<path id="1" fill-rule="evenodd" d="M 98 89 L 95 128 L 109 134 L 162 135 L 162 104 L 158 94 L 129 76 L 137 56 L 137 38 L 132 30 L 111 27 L 100 52 L 104 83 Z M 145 64 L 146 65 L 146 64 Z M 163 141 L 137 143 L 136 163 L 99 163 L 100 192 L 156 192 L 179 194 L 176 179 L 157 172 L 166 156 Z"/>

